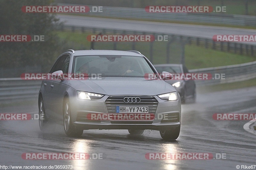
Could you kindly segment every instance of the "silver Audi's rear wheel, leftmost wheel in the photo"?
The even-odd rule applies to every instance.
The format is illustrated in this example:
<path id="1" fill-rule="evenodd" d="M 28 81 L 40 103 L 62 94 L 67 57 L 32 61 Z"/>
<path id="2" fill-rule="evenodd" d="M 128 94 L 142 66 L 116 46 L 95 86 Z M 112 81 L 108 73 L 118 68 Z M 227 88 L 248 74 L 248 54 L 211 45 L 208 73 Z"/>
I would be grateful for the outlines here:
<path id="1" fill-rule="evenodd" d="M 38 100 L 38 114 L 39 114 L 39 127 L 41 131 L 45 131 L 47 124 L 48 124 L 48 119 L 47 116 L 45 115 L 45 110 L 44 110 L 44 100 L 43 97 L 40 96 Z"/>

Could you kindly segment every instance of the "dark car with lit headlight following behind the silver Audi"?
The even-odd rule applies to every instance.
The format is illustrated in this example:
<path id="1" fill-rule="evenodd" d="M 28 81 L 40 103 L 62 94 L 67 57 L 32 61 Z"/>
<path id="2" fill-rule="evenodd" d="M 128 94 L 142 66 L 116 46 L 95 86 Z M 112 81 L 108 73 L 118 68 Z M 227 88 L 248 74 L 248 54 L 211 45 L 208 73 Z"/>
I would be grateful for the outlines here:
<path id="1" fill-rule="evenodd" d="M 167 83 L 175 87 L 175 89 L 180 93 L 180 98 L 182 103 L 194 103 L 196 101 L 196 84 L 194 80 L 186 80 L 175 78 L 175 74 L 189 73 L 188 69 L 183 64 L 156 64 L 154 65 L 158 73 L 167 71 L 172 73 L 173 79 L 165 80 Z"/>

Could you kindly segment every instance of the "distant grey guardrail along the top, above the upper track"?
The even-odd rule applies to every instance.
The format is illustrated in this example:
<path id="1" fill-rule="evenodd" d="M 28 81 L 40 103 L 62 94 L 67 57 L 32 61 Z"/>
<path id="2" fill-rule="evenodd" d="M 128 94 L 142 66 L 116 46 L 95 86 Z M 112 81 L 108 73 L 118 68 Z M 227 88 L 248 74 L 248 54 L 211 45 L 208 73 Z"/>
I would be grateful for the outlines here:
<path id="1" fill-rule="evenodd" d="M 58 5 L 76 5 L 61 4 Z M 87 5 L 92 10 L 92 5 Z M 237 26 L 256 26 L 256 17 L 248 15 L 235 15 L 225 13 L 149 13 L 141 8 L 124 8 L 103 6 L 102 12 L 79 13 L 79 15 L 114 17 L 114 18 L 136 18 L 157 21 L 183 21 L 194 23 L 224 24 Z"/>

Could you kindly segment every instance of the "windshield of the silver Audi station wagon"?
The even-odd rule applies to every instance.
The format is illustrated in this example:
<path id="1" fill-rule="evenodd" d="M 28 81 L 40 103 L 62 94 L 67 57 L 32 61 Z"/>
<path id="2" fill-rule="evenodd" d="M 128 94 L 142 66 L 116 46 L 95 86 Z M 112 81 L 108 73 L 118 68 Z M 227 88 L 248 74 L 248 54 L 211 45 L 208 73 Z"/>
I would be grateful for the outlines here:
<path id="1" fill-rule="evenodd" d="M 148 62 L 140 56 L 85 55 L 75 56 L 73 73 L 89 77 L 144 77 L 154 73 Z"/>

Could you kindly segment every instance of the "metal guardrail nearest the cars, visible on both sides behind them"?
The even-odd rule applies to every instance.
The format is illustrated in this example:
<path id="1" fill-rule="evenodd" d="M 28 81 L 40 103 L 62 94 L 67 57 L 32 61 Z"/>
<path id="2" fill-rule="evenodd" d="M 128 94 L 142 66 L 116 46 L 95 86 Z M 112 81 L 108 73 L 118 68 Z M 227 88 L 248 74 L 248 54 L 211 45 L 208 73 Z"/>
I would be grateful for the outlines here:
<path id="1" fill-rule="evenodd" d="M 189 70 L 191 73 L 225 74 L 225 79 L 195 80 L 197 86 L 217 85 L 256 78 L 256 61 L 251 63 Z M 89 80 L 88 80 L 89 81 Z M 0 78 L 0 103 L 16 100 L 37 100 L 40 80 Z"/>

